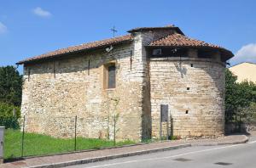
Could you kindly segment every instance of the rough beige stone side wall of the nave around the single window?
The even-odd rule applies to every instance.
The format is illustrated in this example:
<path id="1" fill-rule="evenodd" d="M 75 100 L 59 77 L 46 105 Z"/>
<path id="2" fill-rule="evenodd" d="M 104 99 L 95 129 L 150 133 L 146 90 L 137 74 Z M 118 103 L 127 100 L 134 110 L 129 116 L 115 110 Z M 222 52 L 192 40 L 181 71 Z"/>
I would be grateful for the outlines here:
<path id="1" fill-rule="evenodd" d="M 113 114 L 119 113 L 117 138 L 140 139 L 143 72 L 136 66 L 140 55 L 132 55 L 131 65 L 133 46 L 124 44 L 114 46 L 110 53 L 103 49 L 26 64 L 21 107 L 26 132 L 72 137 L 77 115 L 78 136 L 106 138 L 110 134 L 113 138 Z M 115 89 L 103 88 L 103 68 L 109 62 L 117 67 Z M 115 108 L 116 98 L 119 104 Z"/>

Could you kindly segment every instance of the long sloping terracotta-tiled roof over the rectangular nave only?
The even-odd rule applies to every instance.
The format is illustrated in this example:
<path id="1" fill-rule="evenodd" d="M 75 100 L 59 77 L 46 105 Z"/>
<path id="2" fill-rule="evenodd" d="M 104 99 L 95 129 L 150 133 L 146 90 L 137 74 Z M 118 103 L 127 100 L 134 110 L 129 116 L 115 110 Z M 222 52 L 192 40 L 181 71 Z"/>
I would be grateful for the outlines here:
<path id="1" fill-rule="evenodd" d="M 25 63 L 36 61 L 39 59 L 53 58 L 53 57 L 60 56 L 63 54 L 87 51 L 87 50 L 96 49 L 96 48 L 103 48 L 103 47 L 107 47 L 109 45 L 115 45 L 115 44 L 119 44 L 119 43 L 123 43 L 123 42 L 129 42 L 132 39 L 133 39 L 133 37 L 131 35 L 125 35 L 125 36 L 117 36 L 117 37 L 113 37 L 113 38 L 109 38 L 109 39 L 105 39 L 105 40 L 101 40 L 101 41 L 96 41 L 96 42 L 88 42 L 88 43 L 80 44 L 77 46 L 72 46 L 69 48 L 61 48 L 61 49 L 55 50 L 53 52 L 44 53 L 44 54 L 29 58 L 29 59 L 24 59 L 16 64 L 25 64 Z"/>

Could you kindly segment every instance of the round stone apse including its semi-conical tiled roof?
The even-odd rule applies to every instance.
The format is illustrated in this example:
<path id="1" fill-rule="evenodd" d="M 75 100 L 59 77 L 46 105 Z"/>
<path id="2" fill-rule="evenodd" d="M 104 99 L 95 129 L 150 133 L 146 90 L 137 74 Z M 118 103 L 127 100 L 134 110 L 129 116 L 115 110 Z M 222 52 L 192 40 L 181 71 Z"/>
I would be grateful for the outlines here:
<path id="1" fill-rule="evenodd" d="M 168 107 L 175 136 L 224 134 L 224 70 L 232 56 L 179 33 L 148 45 L 152 137 L 167 135 L 167 123 L 160 126 L 161 105 Z"/>

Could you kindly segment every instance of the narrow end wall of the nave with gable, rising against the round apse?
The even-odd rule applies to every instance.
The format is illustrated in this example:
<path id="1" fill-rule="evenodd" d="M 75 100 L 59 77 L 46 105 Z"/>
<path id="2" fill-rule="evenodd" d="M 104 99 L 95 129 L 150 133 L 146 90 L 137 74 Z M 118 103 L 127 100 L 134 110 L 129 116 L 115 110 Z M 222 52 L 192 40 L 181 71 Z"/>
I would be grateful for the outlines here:
<path id="1" fill-rule="evenodd" d="M 151 118 L 151 103 L 150 103 L 150 74 L 147 46 L 150 42 L 158 40 L 163 36 L 170 35 L 175 31 L 160 30 L 160 31 L 140 31 L 133 34 L 134 36 L 134 57 L 137 58 L 137 76 L 140 76 L 141 96 L 142 96 L 142 138 L 148 139 L 152 133 L 152 118 Z"/>

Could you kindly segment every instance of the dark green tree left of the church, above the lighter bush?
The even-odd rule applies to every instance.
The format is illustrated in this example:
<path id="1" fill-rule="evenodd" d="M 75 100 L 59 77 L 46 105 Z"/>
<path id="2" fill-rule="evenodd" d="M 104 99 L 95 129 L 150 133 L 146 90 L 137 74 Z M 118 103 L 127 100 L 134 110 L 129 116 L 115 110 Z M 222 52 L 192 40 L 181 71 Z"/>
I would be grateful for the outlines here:
<path id="1" fill-rule="evenodd" d="M 22 76 L 14 66 L 0 67 L 0 102 L 20 106 Z"/>

